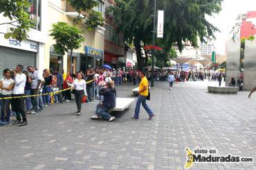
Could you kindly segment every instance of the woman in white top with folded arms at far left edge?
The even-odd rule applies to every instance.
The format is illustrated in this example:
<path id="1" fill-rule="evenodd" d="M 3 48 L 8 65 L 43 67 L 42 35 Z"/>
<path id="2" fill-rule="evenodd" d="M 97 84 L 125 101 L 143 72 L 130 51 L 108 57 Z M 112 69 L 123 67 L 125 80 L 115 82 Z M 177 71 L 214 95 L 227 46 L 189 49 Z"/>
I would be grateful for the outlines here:
<path id="1" fill-rule="evenodd" d="M 0 81 L 1 96 L 0 98 L 10 97 L 12 94 L 12 88 L 15 85 L 15 80 L 12 79 L 12 72 L 9 69 L 3 70 L 4 78 Z M 10 123 L 10 99 L 1 99 L 1 121 L 0 125 L 8 125 Z M 6 111 L 6 119 L 5 119 Z"/>

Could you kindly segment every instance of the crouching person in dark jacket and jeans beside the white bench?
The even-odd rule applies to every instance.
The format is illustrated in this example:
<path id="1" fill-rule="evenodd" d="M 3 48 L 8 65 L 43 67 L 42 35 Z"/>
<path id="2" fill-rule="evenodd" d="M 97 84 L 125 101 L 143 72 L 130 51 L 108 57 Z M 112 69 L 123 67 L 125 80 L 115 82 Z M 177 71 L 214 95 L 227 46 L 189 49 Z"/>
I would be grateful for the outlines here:
<path id="1" fill-rule="evenodd" d="M 104 87 L 100 89 L 99 94 L 103 96 L 103 100 L 97 105 L 96 113 L 91 118 L 100 119 L 101 116 L 104 120 L 111 122 L 116 117 L 111 116 L 108 111 L 116 107 L 116 89 L 110 82 L 107 82 Z"/>

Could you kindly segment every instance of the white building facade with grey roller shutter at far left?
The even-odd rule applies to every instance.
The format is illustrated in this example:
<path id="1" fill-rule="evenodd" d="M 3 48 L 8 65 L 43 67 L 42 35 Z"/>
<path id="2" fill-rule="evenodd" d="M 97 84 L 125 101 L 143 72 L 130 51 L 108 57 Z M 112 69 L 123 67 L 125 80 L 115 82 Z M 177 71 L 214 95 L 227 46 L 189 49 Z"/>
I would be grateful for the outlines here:
<path id="1" fill-rule="evenodd" d="M 13 26 L 10 24 L 0 25 L 0 77 L 3 69 L 15 69 L 18 64 L 37 67 L 39 71 L 44 69 L 44 47 L 46 44 L 46 25 L 47 16 L 46 4 L 41 0 L 29 0 L 30 7 L 26 12 L 30 15 L 30 19 L 35 21 L 33 28 L 28 32 L 28 39 L 17 41 L 16 39 L 5 39 L 4 34 L 10 32 Z M 8 17 L 0 15 L 0 23 L 10 22 Z"/>

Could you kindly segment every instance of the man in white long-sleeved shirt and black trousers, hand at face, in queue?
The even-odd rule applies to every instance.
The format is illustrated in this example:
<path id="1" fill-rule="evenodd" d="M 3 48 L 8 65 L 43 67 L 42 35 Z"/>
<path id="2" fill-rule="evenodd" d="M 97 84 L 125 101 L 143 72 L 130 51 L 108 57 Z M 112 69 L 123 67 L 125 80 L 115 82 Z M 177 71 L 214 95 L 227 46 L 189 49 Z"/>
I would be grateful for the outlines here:
<path id="1" fill-rule="evenodd" d="M 12 111 L 16 112 L 16 118 L 17 120 L 12 125 L 19 125 L 25 126 L 28 125 L 26 114 L 25 114 L 25 103 L 24 103 L 24 90 L 26 85 L 26 75 L 22 73 L 24 70 L 23 65 L 17 65 L 16 69 L 13 71 L 13 76 L 15 77 L 15 87 L 12 89 L 12 96 L 17 98 L 12 98 L 11 105 L 12 105 Z M 20 97 L 20 98 L 19 98 Z M 21 116 L 22 116 L 22 122 L 21 122 Z"/>

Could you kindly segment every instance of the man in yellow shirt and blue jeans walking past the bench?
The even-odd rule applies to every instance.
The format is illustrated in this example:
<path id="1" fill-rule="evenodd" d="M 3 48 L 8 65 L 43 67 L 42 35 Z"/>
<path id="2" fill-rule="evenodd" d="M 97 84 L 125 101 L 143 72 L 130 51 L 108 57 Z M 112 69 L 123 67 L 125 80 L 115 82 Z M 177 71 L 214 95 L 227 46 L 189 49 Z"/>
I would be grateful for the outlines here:
<path id="1" fill-rule="evenodd" d="M 140 85 L 138 86 L 138 100 L 136 103 L 135 113 L 134 116 L 131 118 L 138 119 L 140 115 L 140 105 L 142 104 L 144 109 L 147 111 L 147 114 L 149 114 L 149 120 L 152 120 L 152 118 L 155 116 L 153 111 L 149 109 L 147 106 L 147 96 L 149 94 L 149 83 L 147 81 L 147 78 L 145 77 L 145 72 L 139 72 L 138 74 L 141 78 Z"/>

